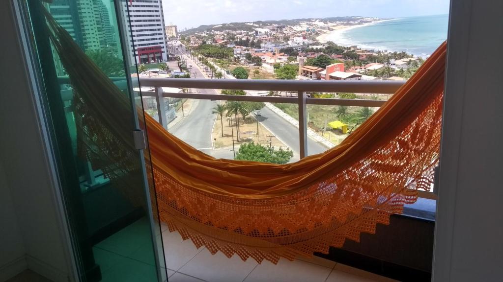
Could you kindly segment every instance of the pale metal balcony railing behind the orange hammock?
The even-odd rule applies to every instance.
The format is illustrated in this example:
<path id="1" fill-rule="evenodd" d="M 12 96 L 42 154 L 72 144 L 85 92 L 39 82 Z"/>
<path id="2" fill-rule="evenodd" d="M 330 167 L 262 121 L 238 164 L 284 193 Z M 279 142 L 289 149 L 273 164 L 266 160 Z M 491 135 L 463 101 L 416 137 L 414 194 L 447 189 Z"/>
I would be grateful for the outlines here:
<path id="1" fill-rule="evenodd" d="M 64 82 L 67 78 L 60 78 Z M 118 79 L 115 83 L 125 83 Z M 142 97 L 154 97 L 159 123 L 166 128 L 167 106 L 163 98 L 188 98 L 224 101 L 270 102 L 298 105 L 299 155 L 307 156 L 307 105 L 380 107 L 385 100 L 311 98 L 306 92 L 393 94 L 404 84 L 403 81 L 313 81 L 313 80 L 241 80 L 241 79 L 186 79 L 186 78 L 140 78 L 141 87 L 152 87 L 153 91 L 142 91 Z M 231 89 L 296 92 L 297 97 L 239 96 L 201 93 L 163 92 L 163 87 L 191 89 Z M 432 192 L 420 191 L 422 198 L 436 199 Z"/>

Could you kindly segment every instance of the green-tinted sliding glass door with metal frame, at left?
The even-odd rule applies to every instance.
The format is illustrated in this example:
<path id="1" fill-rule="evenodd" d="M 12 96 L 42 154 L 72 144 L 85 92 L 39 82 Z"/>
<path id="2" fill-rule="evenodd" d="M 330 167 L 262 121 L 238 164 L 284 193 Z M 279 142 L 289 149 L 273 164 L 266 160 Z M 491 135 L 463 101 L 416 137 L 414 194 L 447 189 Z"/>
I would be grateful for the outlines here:
<path id="1" fill-rule="evenodd" d="M 82 281 L 166 280 L 125 3 L 19 2 Z"/>

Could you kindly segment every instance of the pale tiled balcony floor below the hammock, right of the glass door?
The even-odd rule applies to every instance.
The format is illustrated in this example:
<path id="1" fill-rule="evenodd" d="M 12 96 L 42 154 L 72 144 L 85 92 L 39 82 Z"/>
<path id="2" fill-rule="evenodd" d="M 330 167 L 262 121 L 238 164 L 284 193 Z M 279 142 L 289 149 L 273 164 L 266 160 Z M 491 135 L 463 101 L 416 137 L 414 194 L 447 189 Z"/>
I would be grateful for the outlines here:
<path id="1" fill-rule="evenodd" d="M 178 232 L 163 225 L 162 238 L 170 282 L 390 282 L 396 281 L 320 257 L 289 261 L 277 265 L 269 261 L 258 264 L 254 259 L 242 261 L 238 256 L 227 258 L 206 248 L 196 249 L 192 241 L 182 240 Z"/>

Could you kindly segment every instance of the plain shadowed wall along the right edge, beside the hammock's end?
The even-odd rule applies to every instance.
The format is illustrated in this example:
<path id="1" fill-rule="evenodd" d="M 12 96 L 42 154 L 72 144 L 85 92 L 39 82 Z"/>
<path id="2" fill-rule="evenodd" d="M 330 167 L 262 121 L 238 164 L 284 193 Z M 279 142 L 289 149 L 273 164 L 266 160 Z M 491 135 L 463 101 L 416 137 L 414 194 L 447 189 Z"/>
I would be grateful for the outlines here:
<path id="1" fill-rule="evenodd" d="M 503 281 L 503 2 L 451 3 L 433 280 Z"/>

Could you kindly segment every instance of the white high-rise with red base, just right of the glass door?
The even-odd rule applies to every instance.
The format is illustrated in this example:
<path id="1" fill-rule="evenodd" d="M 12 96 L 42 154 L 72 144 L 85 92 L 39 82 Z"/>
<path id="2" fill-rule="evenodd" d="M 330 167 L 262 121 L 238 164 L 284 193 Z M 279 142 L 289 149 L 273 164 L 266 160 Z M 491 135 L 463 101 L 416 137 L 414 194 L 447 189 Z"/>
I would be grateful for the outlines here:
<path id="1" fill-rule="evenodd" d="M 125 1 L 123 9 L 131 27 L 129 64 L 134 65 L 135 59 L 140 64 L 167 61 L 162 0 Z"/>

